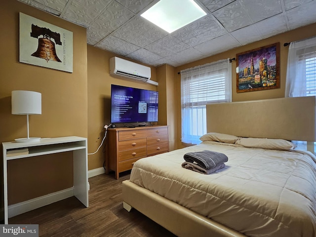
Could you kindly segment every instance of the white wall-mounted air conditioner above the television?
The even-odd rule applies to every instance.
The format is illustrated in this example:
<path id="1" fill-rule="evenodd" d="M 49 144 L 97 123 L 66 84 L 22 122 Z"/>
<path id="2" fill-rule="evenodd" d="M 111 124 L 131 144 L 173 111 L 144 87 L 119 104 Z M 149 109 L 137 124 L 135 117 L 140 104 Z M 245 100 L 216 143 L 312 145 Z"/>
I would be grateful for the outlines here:
<path id="1" fill-rule="evenodd" d="M 116 77 L 147 82 L 158 85 L 151 80 L 151 68 L 122 58 L 110 58 L 110 74 Z"/>

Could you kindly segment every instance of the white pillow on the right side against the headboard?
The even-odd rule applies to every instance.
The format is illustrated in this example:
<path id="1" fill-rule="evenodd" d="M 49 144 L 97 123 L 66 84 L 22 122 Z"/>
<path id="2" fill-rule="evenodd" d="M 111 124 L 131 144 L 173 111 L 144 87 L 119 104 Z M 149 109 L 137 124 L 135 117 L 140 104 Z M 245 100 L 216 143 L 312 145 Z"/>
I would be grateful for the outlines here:
<path id="1" fill-rule="evenodd" d="M 239 137 L 235 142 L 236 145 L 244 147 L 264 148 L 271 150 L 293 150 L 296 145 L 283 139 L 270 138 L 244 138 Z"/>

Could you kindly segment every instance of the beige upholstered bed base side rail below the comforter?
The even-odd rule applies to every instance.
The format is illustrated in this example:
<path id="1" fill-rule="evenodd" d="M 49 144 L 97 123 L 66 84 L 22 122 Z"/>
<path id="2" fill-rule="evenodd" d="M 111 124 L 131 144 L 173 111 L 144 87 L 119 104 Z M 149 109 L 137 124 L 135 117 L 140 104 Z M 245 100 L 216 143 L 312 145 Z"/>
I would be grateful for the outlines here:
<path id="1" fill-rule="evenodd" d="M 179 237 L 245 237 L 128 180 L 122 182 L 123 207 L 135 208 Z"/>

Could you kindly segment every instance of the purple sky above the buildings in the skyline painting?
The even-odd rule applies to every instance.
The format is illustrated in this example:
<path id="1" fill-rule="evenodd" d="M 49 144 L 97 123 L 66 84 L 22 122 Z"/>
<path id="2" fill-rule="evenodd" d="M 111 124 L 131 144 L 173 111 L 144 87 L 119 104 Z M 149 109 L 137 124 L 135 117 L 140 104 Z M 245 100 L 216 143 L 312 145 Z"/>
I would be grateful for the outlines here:
<path id="1" fill-rule="evenodd" d="M 263 48 L 260 50 L 252 51 L 246 54 L 238 55 L 238 68 L 243 70 L 244 68 L 250 68 L 251 65 L 251 54 L 253 56 L 253 64 L 255 68 L 259 67 L 259 61 L 262 58 L 268 60 L 268 66 L 276 65 L 276 46 Z"/>

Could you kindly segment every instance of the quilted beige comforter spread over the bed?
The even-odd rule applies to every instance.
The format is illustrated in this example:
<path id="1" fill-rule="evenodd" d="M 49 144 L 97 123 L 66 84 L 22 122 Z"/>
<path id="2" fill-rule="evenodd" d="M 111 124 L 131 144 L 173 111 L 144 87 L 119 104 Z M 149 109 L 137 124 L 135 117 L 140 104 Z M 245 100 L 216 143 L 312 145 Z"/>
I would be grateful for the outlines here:
<path id="1" fill-rule="evenodd" d="M 185 153 L 202 150 L 224 153 L 226 167 L 210 175 L 181 167 Z M 309 152 L 203 142 L 138 160 L 130 180 L 249 237 L 315 237 L 315 160 Z"/>

